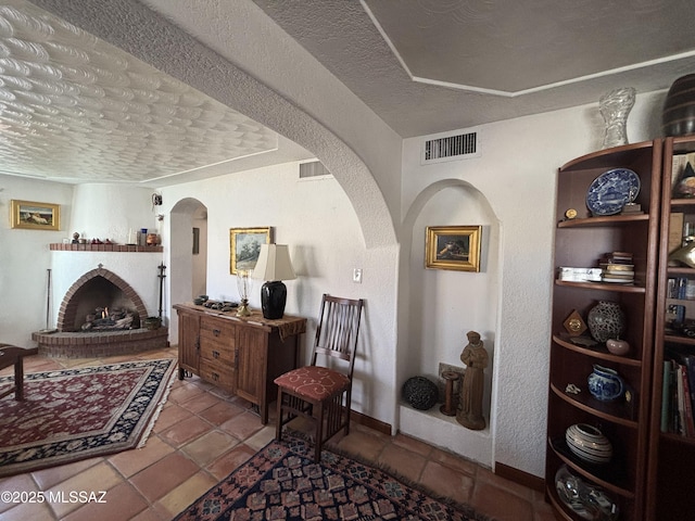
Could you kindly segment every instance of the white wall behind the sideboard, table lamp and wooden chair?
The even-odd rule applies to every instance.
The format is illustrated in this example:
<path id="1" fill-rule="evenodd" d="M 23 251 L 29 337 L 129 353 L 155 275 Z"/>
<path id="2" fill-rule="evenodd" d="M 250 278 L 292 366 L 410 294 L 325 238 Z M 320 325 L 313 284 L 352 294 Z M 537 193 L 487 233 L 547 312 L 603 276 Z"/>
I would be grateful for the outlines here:
<path id="1" fill-rule="evenodd" d="M 352 204 L 336 179 L 300 180 L 299 163 L 290 163 L 168 187 L 162 195 L 167 214 L 191 199 L 207 208 L 206 287 L 211 298 L 239 300 L 236 277 L 229 274 L 229 229 L 273 227 L 275 242 L 290 246 L 298 275 L 286 281 L 286 312 L 309 319 L 304 335 L 306 356 L 323 293 L 365 298 L 353 405 L 368 416 L 394 422 L 396 250 L 365 246 Z M 169 255 L 166 236 L 164 243 Z M 174 268 L 179 260 L 170 259 L 169 277 L 180 277 Z M 352 282 L 353 268 L 363 269 L 362 284 Z M 256 309 L 262 283 L 253 282 L 250 305 Z M 168 302 L 173 344 L 178 339 L 178 321 L 170 306 L 178 302 Z"/>

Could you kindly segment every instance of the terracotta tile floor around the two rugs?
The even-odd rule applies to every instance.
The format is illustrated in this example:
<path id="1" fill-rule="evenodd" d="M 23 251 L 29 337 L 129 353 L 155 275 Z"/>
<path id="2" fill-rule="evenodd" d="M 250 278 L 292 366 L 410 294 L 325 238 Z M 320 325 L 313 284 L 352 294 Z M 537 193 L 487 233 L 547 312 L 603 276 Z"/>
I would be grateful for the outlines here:
<path id="1" fill-rule="evenodd" d="M 102 359 L 34 356 L 25 360 L 25 372 L 176 356 L 176 348 Z M 0 372 L 9 373 L 11 368 Z M 273 425 L 271 419 L 264 427 L 245 401 L 197 377 L 176 380 L 143 448 L 0 480 L 0 492 L 106 491 L 105 504 L 0 503 L 0 519 L 170 520 L 265 446 L 275 435 Z M 354 424 L 350 435 L 332 443 L 500 521 L 554 519 L 541 493 L 412 437 Z"/>

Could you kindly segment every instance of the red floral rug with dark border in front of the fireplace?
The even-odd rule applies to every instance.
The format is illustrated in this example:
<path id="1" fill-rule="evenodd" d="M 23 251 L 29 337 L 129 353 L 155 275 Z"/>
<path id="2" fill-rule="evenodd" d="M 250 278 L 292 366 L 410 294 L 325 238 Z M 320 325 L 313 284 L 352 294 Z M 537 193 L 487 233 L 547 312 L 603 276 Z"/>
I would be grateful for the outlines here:
<path id="1" fill-rule="evenodd" d="M 0 476 L 143 445 L 175 367 L 162 359 L 26 374 L 23 402 L 0 399 Z M 0 389 L 12 380 L 0 378 Z"/>

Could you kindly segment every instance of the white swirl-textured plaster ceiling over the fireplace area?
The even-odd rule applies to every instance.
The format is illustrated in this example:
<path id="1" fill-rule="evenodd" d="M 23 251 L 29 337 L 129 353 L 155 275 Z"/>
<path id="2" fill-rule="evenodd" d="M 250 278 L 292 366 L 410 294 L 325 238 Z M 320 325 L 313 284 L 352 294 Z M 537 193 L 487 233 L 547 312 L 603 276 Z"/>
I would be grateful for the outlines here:
<path id="1" fill-rule="evenodd" d="M 178 182 L 278 136 L 26 2 L 0 5 L 0 173 Z"/>

